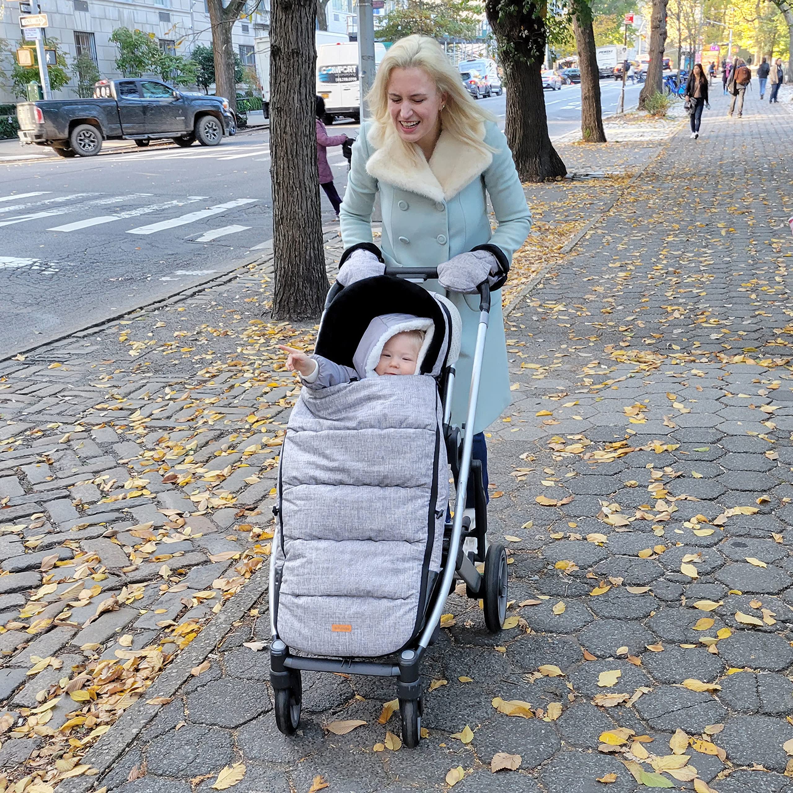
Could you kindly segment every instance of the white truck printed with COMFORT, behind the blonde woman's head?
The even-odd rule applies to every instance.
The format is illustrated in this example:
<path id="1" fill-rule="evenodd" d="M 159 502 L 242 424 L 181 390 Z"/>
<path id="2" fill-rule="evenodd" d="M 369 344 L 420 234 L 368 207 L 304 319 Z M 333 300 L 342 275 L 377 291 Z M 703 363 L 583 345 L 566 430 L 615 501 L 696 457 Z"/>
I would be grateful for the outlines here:
<path id="1" fill-rule="evenodd" d="M 383 44 L 374 45 L 374 66 L 385 56 Z M 326 124 L 347 117 L 360 121 L 361 82 L 358 79 L 358 42 L 324 44 L 316 52 L 316 93 L 325 100 Z"/>

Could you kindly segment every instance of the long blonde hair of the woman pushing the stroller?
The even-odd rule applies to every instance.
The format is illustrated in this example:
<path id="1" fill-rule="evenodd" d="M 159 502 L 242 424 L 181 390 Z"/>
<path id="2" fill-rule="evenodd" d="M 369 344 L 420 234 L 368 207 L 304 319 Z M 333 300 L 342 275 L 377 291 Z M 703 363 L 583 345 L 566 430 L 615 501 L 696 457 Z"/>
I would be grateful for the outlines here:
<path id="1" fill-rule="evenodd" d="M 481 125 L 485 121 L 496 121 L 496 117 L 480 109 L 473 101 L 462 84 L 460 72 L 446 57 L 441 45 L 429 36 L 406 36 L 396 41 L 385 53 L 377 67 L 372 90 L 366 96 L 375 123 L 384 126 L 391 124 L 388 97 L 391 72 L 410 68 L 425 71 L 435 82 L 439 93 L 446 94 L 446 107 L 440 114 L 443 130 L 482 153 L 497 151 L 485 144 L 481 135 L 477 136 Z"/>

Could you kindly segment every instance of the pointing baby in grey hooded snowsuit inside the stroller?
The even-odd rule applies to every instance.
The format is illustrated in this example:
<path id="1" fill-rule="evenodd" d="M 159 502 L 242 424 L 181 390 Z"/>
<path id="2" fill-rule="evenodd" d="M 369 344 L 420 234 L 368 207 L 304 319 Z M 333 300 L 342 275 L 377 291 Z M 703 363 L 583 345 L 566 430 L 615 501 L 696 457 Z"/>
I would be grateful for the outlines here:
<path id="1" fill-rule="evenodd" d="M 432 320 L 409 314 L 376 316 L 366 328 L 353 356 L 355 368 L 341 366 L 322 355 L 307 355 L 278 345 L 289 353 L 286 367 L 315 389 L 383 377 L 387 374 L 418 374 L 432 337 Z"/>

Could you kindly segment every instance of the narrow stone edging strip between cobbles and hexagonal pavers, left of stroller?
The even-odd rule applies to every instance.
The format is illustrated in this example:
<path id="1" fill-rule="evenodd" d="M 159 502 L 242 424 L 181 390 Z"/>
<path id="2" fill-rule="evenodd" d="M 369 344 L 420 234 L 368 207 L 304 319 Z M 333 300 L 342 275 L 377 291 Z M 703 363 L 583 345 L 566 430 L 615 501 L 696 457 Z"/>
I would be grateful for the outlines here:
<path id="1" fill-rule="evenodd" d="M 173 664 L 168 665 L 155 683 L 144 695 L 128 707 L 112 729 L 90 749 L 82 759 L 97 770 L 94 776 L 74 776 L 63 780 L 56 787 L 57 793 L 86 793 L 90 791 L 98 779 L 110 770 L 113 763 L 121 757 L 127 747 L 135 741 L 149 722 L 159 713 L 164 705 L 151 706 L 147 699 L 154 697 L 172 697 L 190 678 L 190 669 L 201 664 L 212 653 L 232 624 L 239 620 L 259 598 L 267 591 L 270 580 L 270 565 L 262 565 L 251 576 L 241 592 L 232 598 L 212 622 L 208 623 L 201 633 L 178 655 Z"/>

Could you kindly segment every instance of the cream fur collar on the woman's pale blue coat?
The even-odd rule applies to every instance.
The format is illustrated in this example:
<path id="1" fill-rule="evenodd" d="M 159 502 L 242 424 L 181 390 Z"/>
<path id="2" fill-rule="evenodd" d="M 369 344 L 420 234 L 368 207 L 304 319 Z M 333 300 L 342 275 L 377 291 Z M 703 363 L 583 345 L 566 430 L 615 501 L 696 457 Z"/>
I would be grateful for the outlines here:
<path id="1" fill-rule="evenodd" d="M 485 125 L 479 125 L 476 133 L 485 140 Z M 429 163 L 416 144 L 408 147 L 402 142 L 390 121 L 373 123 L 366 138 L 377 150 L 366 163 L 370 176 L 433 201 L 448 201 L 492 163 L 489 151 L 477 151 L 446 130 L 441 132 Z"/>

